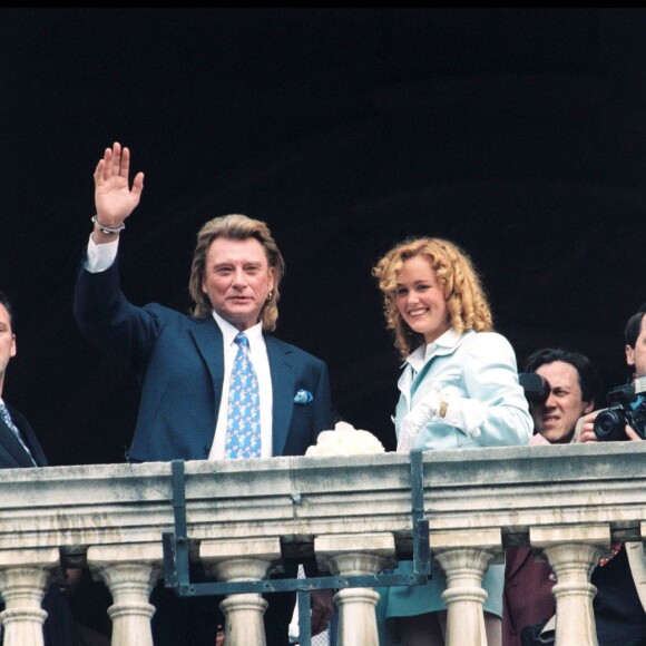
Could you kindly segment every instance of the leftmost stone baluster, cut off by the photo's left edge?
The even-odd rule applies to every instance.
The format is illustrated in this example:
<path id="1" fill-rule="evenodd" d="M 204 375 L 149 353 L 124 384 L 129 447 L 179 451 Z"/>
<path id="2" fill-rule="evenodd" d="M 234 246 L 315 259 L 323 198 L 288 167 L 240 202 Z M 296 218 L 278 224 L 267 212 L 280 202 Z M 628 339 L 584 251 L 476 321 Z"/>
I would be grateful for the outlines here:
<path id="1" fill-rule="evenodd" d="M 42 646 L 47 613 L 40 607 L 52 570 L 60 565 L 58 548 L 0 551 L 0 613 L 4 646 Z"/>

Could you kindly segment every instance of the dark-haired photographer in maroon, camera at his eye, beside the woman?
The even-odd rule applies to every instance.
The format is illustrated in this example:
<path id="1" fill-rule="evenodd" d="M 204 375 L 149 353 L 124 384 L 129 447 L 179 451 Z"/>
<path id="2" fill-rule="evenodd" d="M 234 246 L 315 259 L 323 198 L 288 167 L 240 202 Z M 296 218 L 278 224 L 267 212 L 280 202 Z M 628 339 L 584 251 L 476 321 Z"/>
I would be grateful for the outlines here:
<path id="1" fill-rule="evenodd" d="M 595 408 L 595 399 L 603 392 L 590 360 L 578 352 L 544 348 L 528 356 L 523 370 L 519 381 L 534 419 L 530 444 L 571 442 L 578 420 Z M 530 547 L 506 550 L 502 646 L 532 643 L 527 640 L 529 634 L 538 634 L 556 611 L 555 584 L 549 564 L 536 560 Z"/>

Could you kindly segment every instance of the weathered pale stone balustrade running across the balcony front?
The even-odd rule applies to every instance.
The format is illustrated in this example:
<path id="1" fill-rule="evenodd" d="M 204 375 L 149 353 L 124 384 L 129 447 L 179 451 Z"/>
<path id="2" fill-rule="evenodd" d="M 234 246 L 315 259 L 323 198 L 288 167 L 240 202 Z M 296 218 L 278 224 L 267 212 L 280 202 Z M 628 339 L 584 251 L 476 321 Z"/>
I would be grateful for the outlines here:
<path id="1" fill-rule="evenodd" d="M 423 508 L 448 588 L 448 643 L 486 644 L 481 578 L 531 545 L 557 574 L 557 644 L 594 646 L 590 572 L 611 542 L 646 540 L 646 442 L 428 452 Z M 411 554 L 411 470 L 397 453 L 184 464 L 192 559 L 219 581 L 258 580 L 286 555 L 331 576 Z M 149 594 L 175 531 L 172 463 L 0 470 L 4 646 L 42 645 L 46 586 L 75 555 L 108 587 L 114 646 L 151 645 Z M 342 646 L 376 645 L 371 588 L 335 596 Z M 271 600 L 270 600 L 271 603 Z M 255 593 L 227 596 L 227 646 L 264 644 Z"/>

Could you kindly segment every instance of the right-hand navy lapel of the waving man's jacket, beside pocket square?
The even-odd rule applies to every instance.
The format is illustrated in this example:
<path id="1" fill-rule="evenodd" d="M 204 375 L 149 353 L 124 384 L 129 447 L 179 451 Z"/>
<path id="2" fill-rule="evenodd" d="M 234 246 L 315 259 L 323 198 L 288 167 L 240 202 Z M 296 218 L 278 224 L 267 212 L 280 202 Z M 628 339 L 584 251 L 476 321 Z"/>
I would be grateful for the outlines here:
<path id="1" fill-rule="evenodd" d="M 287 431 L 294 410 L 294 369 L 291 361 L 292 350 L 274 336 L 265 334 L 270 372 L 272 373 L 273 415 L 272 454 L 282 456 L 285 450 Z"/>

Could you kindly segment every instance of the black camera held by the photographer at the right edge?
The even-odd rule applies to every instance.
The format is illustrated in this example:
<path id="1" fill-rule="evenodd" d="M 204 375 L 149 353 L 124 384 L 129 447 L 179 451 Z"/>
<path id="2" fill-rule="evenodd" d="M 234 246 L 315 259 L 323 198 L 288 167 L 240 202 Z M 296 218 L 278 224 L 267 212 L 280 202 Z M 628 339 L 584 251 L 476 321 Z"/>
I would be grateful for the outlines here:
<path id="1" fill-rule="evenodd" d="M 635 432 L 646 440 L 646 399 L 642 395 L 640 381 L 644 376 L 635 380 L 635 386 L 630 384 L 614 388 L 607 395 L 608 408 L 595 418 L 595 435 L 600 442 L 627 440 L 626 424 L 635 429 Z"/>

